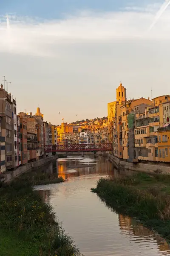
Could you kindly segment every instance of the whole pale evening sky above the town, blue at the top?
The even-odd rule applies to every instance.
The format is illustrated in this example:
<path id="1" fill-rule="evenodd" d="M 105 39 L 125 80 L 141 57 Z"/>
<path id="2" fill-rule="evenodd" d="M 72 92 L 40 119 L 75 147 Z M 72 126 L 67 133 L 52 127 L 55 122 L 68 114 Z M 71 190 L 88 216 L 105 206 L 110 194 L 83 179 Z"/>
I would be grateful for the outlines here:
<path id="1" fill-rule="evenodd" d="M 154 22 L 163 3 L 0 0 L 0 79 L 17 111 L 40 107 L 58 125 L 107 116 L 120 81 L 127 99 L 169 94 L 170 6 Z"/>

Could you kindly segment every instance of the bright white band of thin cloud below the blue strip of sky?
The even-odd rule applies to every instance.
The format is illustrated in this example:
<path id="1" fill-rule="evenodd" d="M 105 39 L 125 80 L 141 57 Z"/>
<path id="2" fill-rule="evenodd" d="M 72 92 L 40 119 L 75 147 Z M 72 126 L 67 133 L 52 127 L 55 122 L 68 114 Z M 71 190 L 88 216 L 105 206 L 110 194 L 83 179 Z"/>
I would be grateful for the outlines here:
<path id="1" fill-rule="evenodd" d="M 32 17 L 8 16 L 0 20 L 0 51 L 25 55 L 54 56 L 53 46 L 71 41 L 108 41 L 113 39 L 170 39 L 170 11 L 167 10 L 159 26 L 145 33 L 154 18 L 155 5 L 145 9 L 130 7 L 121 12 L 82 12 L 63 20 L 40 20 Z M 128 9 L 128 8 L 127 8 Z"/>

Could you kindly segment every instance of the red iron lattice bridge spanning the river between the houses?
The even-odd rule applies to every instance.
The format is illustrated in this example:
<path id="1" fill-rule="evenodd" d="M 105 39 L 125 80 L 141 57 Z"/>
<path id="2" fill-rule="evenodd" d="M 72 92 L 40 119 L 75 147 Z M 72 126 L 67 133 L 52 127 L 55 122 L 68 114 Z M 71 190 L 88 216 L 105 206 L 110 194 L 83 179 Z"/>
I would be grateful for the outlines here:
<path id="1" fill-rule="evenodd" d="M 58 145 L 45 145 L 45 153 L 50 152 L 90 152 L 90 151 L 112 151 L 113 145 L 106 144 L 58 144 Z"/>

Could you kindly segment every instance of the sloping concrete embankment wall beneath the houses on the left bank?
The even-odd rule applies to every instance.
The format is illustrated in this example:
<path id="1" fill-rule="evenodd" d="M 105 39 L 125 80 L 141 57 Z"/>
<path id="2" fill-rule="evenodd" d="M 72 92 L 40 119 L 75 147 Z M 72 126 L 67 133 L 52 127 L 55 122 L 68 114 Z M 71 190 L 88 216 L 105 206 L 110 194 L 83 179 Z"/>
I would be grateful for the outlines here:
<path id="1" fill-rule="evenodd" d="M 53 160 L 56 160 L 58 158 L 57 155 L 55 156 L 51 156 L 51 157 L 46 157 L 40 160 L 37 160 L 35 162 L 31 162 L 31 163 L 26 163 L 23 166 L 18 167 L 15 170 L 12 171 L 8 171 L 4 174 L 1 175 L 1 179 L 3 179 L 5 182 L 10 182 L 11 180 L 13 180 L 15 177 L 20 176 L 21 174 L 23 174 L 24 172 L 28 172 L 34 169 L 37 169 L 43 165 L 45 165 L 46 163 L 49 163 Z"/>

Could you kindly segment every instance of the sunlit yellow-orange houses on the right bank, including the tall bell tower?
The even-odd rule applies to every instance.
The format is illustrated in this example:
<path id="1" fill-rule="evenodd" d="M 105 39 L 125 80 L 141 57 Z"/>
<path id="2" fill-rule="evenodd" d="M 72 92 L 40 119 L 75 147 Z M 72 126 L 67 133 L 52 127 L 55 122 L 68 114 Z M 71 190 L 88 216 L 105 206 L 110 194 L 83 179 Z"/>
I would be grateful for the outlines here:
<path id="1" fill-rule="evenodd" d="M 170 162 L 170 95 L 127 100 L 121 83 L 108 110 L 109 139 L 116 157 Z"/>

